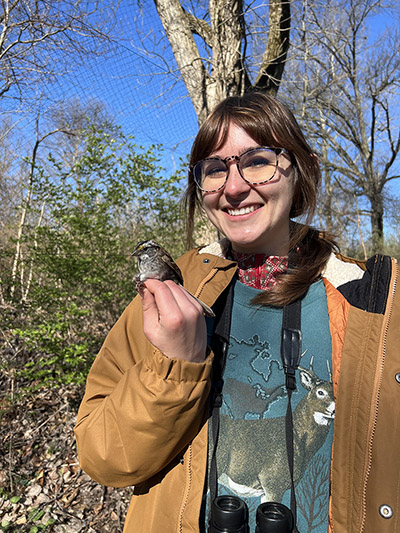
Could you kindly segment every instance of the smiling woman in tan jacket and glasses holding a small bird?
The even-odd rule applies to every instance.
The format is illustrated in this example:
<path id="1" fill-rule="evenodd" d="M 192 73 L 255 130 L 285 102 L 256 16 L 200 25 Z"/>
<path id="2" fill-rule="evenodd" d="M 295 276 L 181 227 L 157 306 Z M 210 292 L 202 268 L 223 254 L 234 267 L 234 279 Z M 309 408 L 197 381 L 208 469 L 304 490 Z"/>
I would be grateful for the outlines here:
<path id="1" fill-rule="evenodd" d="M 217 493 L 246 502 L 250 531 L 271 500 L 292 508 L 302 533 L 400 531 L 397 265 L 333 253 L 308 226 L 319 181 L 275 98 L 228 98 L 200 128 L 189 235 L 201 208 L 224 238 L 178 265 L 216 318 L 175 283 L 147 280 L 109 333 L 78 413 L 82 468 L 134 486 L 124 531 L 206 531 Z M 293 308 L 301 323 L 291 315 L 288 328 Z M 282 330 L 300 356 L 289 378 Z"/>

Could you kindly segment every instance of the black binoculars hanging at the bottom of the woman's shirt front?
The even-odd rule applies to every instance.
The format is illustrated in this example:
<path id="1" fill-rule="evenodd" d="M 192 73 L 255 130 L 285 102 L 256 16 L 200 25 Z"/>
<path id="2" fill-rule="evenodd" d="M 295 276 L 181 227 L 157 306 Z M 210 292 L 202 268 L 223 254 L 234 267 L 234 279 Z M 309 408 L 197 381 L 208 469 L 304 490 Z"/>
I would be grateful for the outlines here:
<path id="1" fill-rule="evenodd" d="M 292 533 L 293 514 L 283 503 L 257 507 L 255 533 Z M 249 510 L 237 496 L 217 496 L 211 504 L 208 533 L 250 533 Z"/>

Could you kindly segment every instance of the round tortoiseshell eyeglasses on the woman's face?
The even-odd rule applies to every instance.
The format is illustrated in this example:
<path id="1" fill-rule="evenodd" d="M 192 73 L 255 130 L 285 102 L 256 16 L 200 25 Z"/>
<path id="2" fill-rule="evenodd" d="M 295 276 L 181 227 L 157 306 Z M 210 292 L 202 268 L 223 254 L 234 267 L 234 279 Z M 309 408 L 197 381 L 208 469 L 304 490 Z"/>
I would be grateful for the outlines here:
<path id="1" fill-rule="evenodd" d="M 192 167 L 194 181 L 203 192 L 221 190 L 228 179 L 228 162 L 234 161 L 240 176 L 252 185 L 262 185 L 271 181 L 278 168 L 278 157 L 287 154 L 285 148 L 252 148 L 242 155 L 230 157 L 207 157 Z"/>

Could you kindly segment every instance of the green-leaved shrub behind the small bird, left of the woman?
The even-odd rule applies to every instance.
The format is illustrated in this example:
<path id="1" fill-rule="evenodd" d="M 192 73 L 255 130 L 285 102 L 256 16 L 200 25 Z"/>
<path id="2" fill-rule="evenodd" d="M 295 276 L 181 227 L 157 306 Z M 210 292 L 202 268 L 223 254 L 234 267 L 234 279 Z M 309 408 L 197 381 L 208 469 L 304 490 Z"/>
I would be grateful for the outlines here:
<path id="1" fill-rule="evenodd" d="M 40 135 L 37 151 L 54 131 Z M 69 130 L 75 147 L 76 136 L 80 151 L 67 164 L 51 152 L 46 165 L 37 155 L 29 162 L 21 222 L 3 259 L 3 305 L 13 318 L 4 313 L 0 328 L 29 354 L 16 364 L 21 379 L 41 384 L 84 381 L 104 331 L 135 294 L 137 241 L 183 252 L 180 176 L 165 176 L 160 149 L 137 147 L 109 122 Z"/>

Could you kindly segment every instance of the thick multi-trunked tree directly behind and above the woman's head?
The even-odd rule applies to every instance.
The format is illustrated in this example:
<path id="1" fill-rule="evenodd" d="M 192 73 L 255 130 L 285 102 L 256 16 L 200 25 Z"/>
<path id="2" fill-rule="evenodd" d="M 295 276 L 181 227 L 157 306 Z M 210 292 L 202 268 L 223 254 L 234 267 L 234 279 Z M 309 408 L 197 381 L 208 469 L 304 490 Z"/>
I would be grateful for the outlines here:
<path id="1" fill-rule="evenodd" d="M 276 93 L 290 33 L 290 1 L 271 0 L 256 11 L 242 0 L 154 0 L 199 122 L 223 98 L 250 87 Z M 260 18 L 268 16 L 268 39 L 256 53 Z M 265 32 L 262 23 L 262 32 Z"/>

